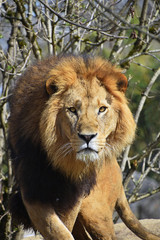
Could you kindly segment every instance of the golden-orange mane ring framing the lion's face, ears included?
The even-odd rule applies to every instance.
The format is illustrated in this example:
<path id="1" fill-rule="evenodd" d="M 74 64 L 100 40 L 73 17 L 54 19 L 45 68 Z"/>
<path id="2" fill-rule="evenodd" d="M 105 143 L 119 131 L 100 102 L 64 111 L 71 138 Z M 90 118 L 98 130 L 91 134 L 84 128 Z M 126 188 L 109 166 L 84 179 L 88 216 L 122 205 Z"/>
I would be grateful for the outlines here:
<path id="1" fill-rule="evenodd" d="M 66 57 L 58 64 L 55 64 L 54 69 L 48 75 L 46 88 L 50 94 L 50 99 L 40 121 L 42 142 L 45 149 L 47 149 L 53 166 L 61 169 L 74 179 L 78 179 L 87 173 L 91 173 L 91 170 L 95 168 L 95 164 L 86 165 L 84 162 L 75 161 L 75 153 L 65 156 L 64 160 L 63 156 L 56 158 L 55 153 L 58 149 L 61 151 L 60 147 L 63 145 L 63 139 L 59 131 L 56 130 L 56 125 L 59 125 L 57 116 L 62 108 L 61 99 L 63 94 L 71 86 L 76 85 L 77 81 L 83 79 L 84 82 L 92 82 L 96 77 L 100 84 L 114 97 L 113 107 L 119 118 L 116 131 L 111 133 L 106 140 L 108 145 L 106 155 L 108 159 L 111 159 L 113 156 L 118 156 L 133 141 L 135 134 L 135 123 L 124 94 L 127 88 L 127 79 L 120 69 L 115 68 L 102 58 L 90 58 L 85 62 L 84 58 L 73 56 Z M 53 94 L 54 89 L 56 89 L 56 92 Z M 99 159 L 96 162 L 96 167 L 98 168 L 101 165 L 102 162 Z"/>

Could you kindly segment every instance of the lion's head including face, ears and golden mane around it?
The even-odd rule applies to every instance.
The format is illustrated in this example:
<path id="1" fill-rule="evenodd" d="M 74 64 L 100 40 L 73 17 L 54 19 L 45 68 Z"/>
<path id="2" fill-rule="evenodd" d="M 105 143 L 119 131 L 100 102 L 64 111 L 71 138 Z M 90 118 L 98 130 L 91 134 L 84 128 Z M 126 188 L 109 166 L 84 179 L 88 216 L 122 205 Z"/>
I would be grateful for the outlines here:
<path id="1" fill-rule="evenodd" d="M 100 167 L 134 138 L 127 79 L 101 58 L 62 58 L 49 73 L 41 140 L 54 167 L 73 177 Z"/>

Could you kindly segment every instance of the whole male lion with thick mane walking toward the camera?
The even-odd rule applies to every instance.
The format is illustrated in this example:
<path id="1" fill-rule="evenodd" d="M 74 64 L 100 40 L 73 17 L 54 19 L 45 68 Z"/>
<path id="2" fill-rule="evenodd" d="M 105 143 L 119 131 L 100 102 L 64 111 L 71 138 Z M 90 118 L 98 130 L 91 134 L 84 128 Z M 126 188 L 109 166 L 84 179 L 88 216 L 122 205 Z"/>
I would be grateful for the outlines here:
<path id="1" fill-rule="evenodd" d="M 117 156 L 136 124 L 127 78 L 100 57 L 50 57 L 31 66 L 10 99 L 9 146 L 16 224 L 45 240 L 116 239 L 112 215 L 158 240 L 131 212 Z"/>

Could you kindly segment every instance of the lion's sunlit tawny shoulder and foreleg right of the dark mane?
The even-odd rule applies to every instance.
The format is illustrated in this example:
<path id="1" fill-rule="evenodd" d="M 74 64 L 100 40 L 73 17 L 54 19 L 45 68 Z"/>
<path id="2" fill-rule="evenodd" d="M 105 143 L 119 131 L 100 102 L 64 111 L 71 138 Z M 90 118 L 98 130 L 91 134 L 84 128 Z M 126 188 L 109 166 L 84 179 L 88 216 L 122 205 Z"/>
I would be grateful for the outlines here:
<path id="1" fill-rule="evenodd" d="M 73 233 L 75 239 L 116 239 L 113 226 L 113 211 L 121 195 L 121 171 L 116 159 L 105 164 L 97 177 L 97 184 L 90 195 L 82 202 L 81 211 Z M 83 223 L 86 231 L 84 231 Z"/>

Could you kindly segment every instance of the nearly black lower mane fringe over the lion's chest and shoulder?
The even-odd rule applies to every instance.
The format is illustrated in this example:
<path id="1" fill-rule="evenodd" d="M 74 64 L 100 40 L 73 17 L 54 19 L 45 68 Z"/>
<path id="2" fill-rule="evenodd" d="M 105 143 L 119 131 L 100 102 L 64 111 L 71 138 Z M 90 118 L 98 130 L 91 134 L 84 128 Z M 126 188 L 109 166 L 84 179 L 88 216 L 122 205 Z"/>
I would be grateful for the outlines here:
<path id="1" fill-rule="evenodd" d="M 95 172 L 74 182 L 54 169 L 49 165 L 42 147 L 34 146 L 32 140 L 20 139 L 17 144 L 19 156 L 11 150 L 17 188 L 9 204 L 15 223 L 24 224 L 25 228 L 32 227 L 19 189 L 23 190 L 29 203 L 40 202 L 44 206 L 49 204 L 59 215 L 73 208 L 79 197 L 89 195 L 96 184 Z"/>

